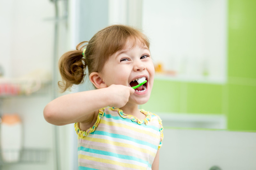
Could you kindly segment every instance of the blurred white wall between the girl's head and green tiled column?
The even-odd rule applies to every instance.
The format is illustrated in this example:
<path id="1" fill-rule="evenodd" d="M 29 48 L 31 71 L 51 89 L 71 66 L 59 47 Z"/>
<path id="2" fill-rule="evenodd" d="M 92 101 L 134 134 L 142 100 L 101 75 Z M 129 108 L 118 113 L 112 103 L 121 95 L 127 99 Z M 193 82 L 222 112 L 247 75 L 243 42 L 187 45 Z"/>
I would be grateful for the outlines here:
<path id="1" fill-rule="evenodd" d="M 177 77 L 226 80 L 226 0 L 144 0 L 151 55 Z"/>

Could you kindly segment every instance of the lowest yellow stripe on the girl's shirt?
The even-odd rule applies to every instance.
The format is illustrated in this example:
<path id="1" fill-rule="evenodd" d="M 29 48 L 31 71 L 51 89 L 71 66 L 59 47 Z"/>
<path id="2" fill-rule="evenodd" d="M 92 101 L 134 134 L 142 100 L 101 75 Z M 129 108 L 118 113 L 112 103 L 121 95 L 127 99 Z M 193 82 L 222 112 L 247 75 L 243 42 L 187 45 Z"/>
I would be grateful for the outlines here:
<path id="1" fill-rule="evenodd" d="M 96 157 L 86 156 L 86 155 L 81 155 L 81 154 L 78 155 L 78 159 L 87 159 L 87 160 L 92 160 L 92 161 L 96 161 L 96 162 L 102 162 L 102 163 L 118 165 L 118 166 L 123 166 L 123 167 L 128 167 L 128 168 L 134 168 L 133 164 L 122 163 L 122 162 L 118 162 L 118 161 L 114 161 L 114 160 L 110 161 L 109 159 L 96 158 Z M 143 170 L 143 169 L 145 169 L 145 167 L 136 165 L 136 169 Z"/>

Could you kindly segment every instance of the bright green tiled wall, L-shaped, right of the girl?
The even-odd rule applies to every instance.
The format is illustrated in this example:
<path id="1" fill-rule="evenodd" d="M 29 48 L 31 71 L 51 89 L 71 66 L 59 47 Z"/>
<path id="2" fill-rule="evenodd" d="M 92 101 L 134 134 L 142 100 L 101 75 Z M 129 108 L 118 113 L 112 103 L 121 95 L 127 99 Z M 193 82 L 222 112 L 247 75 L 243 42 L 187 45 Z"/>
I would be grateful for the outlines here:
<path id="1" fill-rule="evenodd" d="M 256 130 L 256 5 L 228 1 L 228 79 L 224 84 L 155 80 L 141 107 L 152 112 L 226 115 L 229 130 Z"/>

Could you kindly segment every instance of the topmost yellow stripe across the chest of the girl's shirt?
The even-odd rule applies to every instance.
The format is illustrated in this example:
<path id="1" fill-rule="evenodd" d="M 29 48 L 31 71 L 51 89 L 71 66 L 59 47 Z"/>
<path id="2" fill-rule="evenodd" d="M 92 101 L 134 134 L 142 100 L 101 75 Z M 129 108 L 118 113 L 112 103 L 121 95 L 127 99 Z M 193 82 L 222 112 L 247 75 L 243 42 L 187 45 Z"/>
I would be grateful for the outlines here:
<path id="1" fill-rule="evenodd" d="M 125 129 L 130 129 L 130 130 L 133 130 L 133 131 L 136 131 L 136 132 L 139 132 L 139 133 L 144 133 L 144 134 L 147 134 L 151 137 L 154 137 L 156 139 L 159 139 L 159 136 L 152 133 L 152 132 L 149 132 L 147 130 L 142 130 L 142 129 L 138 129 L 138 128 L 134 128 L 132 126 L 128 126 L 128 125 L 125 125 L 125 124 L 122 124 L 122 123 L 116 123 L 116 122 L 108 122 L 108 121 L 105 121 L 105 120 L 100 120 L 100 123 L 103 123 L 103 124 L 106 124 L 106 125 L 109 125 L 109 126 L 117 126 L 117 127 L 121 127 L 121 128 L 125 128 Z"/>

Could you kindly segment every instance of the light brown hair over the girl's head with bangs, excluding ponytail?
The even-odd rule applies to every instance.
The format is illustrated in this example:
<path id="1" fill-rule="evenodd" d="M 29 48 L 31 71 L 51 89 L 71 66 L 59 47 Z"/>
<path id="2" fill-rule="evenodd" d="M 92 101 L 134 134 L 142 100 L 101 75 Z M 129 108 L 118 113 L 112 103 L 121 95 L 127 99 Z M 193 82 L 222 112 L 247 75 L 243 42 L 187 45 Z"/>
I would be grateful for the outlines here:
<path id="1" fill-rule="evenodd" d="M 108 58 L 117 51 L 124 49 L 128 41 L 130 41 L 132 47 L 141 45 L 149 49 L 147 36 L 131 26 L 113 25 L 96 33 L 88 43 L 87 48 L 90 50 L 85 51 L 86 56 L 92 56 L 91 60 L 97 60 L 95 62 L 97 64 L 90 70 L 101 72 Z M 91 60 L 88 59 L 88 62 L 92 62 Z"/>

